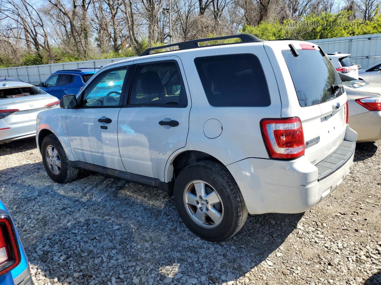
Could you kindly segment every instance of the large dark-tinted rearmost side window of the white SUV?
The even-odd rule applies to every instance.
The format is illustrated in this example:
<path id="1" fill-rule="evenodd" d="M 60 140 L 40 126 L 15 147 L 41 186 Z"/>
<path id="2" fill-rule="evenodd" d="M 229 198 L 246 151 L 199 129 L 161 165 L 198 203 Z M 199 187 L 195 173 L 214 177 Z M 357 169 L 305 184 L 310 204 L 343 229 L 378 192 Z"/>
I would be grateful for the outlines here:
<path id="1" fill-rule="evenodd" d="M 194 62 L 210 105 L 216 107 L 270 105 L 266 77 L 255 55 L 197 57 Z"/>

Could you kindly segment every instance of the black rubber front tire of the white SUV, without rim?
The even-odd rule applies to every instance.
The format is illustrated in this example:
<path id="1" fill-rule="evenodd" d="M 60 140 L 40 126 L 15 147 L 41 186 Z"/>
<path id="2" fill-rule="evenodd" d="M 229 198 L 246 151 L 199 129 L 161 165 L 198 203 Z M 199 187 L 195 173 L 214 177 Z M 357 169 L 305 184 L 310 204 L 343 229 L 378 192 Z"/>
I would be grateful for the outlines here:
<path id="1" fill-rule="evenodd" d="M 48 166 L 46 161 L 45 151 L 48 146 L 53 146 L 54 149 L 57 150 L 59 158 L 61 160 L 61 169 L 58 174 L 54 174 Z M 46 173 L 49 175 L 51 180 L 57 183 L 68 183 L 78 175 L 78 169 L 73 168 L 69 165 L 69 160 L 67 159 L 64 148 L 62 147 L 59 140 L 54 135 L 47 135 L 41 145 L 41 155 L 42 155 L 42 163 L 45 167 Z"/>

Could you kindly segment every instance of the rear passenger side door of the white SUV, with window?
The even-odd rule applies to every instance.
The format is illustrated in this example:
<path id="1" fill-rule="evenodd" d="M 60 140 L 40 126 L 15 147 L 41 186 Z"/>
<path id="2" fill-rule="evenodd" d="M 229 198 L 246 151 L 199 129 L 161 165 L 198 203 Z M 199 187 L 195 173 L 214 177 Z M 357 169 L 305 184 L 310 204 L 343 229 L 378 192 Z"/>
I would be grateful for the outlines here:
<path id="1" fill-rule="evenodd" d="M 166 161 L 185 146 L 191 98 L 184 81 L 176 56 L 134 61 L 130 96 L 118 117 L 119 150 L 127 172 L 163 181 Z"/>

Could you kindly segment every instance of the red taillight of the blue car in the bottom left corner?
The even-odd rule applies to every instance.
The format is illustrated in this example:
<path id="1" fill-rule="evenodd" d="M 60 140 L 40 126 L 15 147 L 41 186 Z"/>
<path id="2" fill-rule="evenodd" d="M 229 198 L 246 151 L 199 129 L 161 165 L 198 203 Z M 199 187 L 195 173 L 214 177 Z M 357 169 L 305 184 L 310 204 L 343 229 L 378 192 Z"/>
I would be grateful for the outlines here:
<path id="1" fill-rule="evenodd" d="M 19 246 L 12 222 L 0 217 L 0 275 L 12 270 L 20 263 Z"/>

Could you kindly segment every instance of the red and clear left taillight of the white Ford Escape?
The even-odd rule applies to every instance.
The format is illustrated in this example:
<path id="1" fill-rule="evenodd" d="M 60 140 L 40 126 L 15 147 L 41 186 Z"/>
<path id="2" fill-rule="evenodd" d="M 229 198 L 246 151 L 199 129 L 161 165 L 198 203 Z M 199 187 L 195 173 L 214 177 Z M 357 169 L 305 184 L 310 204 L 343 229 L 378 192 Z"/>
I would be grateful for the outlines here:
<path id="1" fill-rule="evenodd" d="M 298 117 L 263 119 L 261 131 L 270 158 L 292 159 L 304 155 L 303 127 Z"/>

